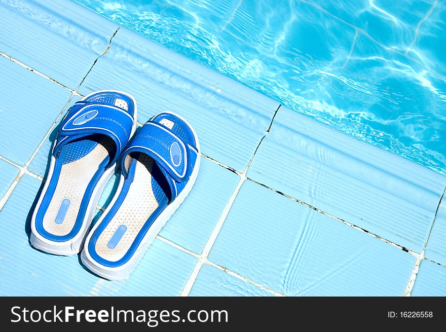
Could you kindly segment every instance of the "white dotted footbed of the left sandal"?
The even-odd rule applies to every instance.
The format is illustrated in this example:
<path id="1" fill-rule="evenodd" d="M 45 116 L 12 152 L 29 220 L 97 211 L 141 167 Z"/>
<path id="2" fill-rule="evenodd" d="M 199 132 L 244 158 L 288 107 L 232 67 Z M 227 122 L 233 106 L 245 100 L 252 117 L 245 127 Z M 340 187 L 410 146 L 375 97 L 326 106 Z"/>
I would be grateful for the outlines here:
<path id="1" fill-rule="evenodd" d="M 88 184 L 114 146 L 111 138 L 104 137 L 86 156 L 62 165 L 56 189 L 43 219 L 45 231 L 64 236 L 73 229 Z M 70 204 L 63 222 L 58 224 L 56 216 L 66 199 Z"/>

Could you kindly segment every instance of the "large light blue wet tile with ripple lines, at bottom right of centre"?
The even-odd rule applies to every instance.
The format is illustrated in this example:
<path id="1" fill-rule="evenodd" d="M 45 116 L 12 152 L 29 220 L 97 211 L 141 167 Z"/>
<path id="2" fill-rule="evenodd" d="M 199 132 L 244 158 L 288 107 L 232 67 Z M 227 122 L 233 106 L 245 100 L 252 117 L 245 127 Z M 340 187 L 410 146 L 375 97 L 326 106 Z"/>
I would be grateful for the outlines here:
<path id="1" fill-rule="evenodd" d="M 402 296 L 415 257 L 246 181 L 208 259 L 289 296 Z"/>

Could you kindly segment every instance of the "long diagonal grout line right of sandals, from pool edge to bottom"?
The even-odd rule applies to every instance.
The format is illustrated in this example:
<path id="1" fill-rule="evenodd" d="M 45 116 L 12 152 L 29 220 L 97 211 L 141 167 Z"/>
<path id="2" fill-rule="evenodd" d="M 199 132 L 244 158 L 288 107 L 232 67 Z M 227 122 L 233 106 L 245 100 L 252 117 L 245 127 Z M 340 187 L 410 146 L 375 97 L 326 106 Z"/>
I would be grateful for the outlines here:
<path id="1" fill-rule="evenodd" d="M 240 188 L 243 185 L 243 182 L 247 178 L 246 177 L 246 173 L 248 172 L 249 166 L 251 165 L 251 162 L 254 159 L 255 153 L 257 152 L 258 147 L 262 144 L 262 141 L 264 140 L 264 138 L 270 132 L 271 126 L 273 125 L 274 119 L 275 119 L 275 117 L 277 115 L 277 112 L 278 112 L 279 108 L 280 108 L 280 105 L 277 107 L 276 112 L 274 113 L 274 115 L 273 115 L 273 117 L 271 119 L 271 122 L 270 122 L 270 125 L 269 125 L 267 131 L 265 132 L 265 134 L 263 135 L 261 140 L 258 142 L 257 147 L 255 148 L 255 151 L 254 151 L 252 157 L 250 158 L 250 160 L 248 162 L 248 165 L 246 166 L 246 169 L 244 170 L 244 172 L 242 174 L 240 174 L 240 180 L 237 183 L 237 186 L 236 186 L 234 192 L 232 193 L 231 197 L 229 198 L 228 203 L 226 203 L 225 208 L 221 212 L 220 217 L 218 218 L 218 221 L 217 221 L 217 223 L 216 223 L 216 225 L 215 225 L 211 235 L 209 236 L 206 244 L 204 245 L 203 251 L 200 254 L 200 256 L 198 257 L 198 262 L 195 265 L 195 268 L 192 271 L 192 274 L 190 275 L 188 281 L 185 283 L 184 288 L 181 291 L 180 296 L 184 297 L 184 296 L 188 296 L 189 295 L 189 292 L 191 291 L 192 286 L 194 285 L 195 280 L 197 279 L 197 276 L 198 276 L 198 273 L 201 270 L 201 267 L 203 266 L 203 264 L 205 264 L 207 262 L 207 256 L 208 256 L 212 246 L 214 245 L 214 243 L 215 243 L 215 241 L 217 239 L 217 236 L 220 233 L 221 228 L 223 227 L 223 224 L 225 223 L 226 217 L 228 216 L 229 211 L 231 210 L 231 207 L 232 207 L 232 205 L 233 205 L 233 203 L 235 201 L 235 198 L 237 197 L 237 194 L 240 191 Z"/>

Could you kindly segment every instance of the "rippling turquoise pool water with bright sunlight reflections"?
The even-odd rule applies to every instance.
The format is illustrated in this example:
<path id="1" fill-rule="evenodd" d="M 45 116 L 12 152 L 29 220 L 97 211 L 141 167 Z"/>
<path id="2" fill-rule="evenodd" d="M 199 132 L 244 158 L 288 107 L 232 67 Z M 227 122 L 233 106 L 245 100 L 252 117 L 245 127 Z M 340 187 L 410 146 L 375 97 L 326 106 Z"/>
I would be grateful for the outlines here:
<path id="1" fill-rule="evenodd" d="M 318 121 L 446 174 L 446 5 L 76 0 Z"/>

